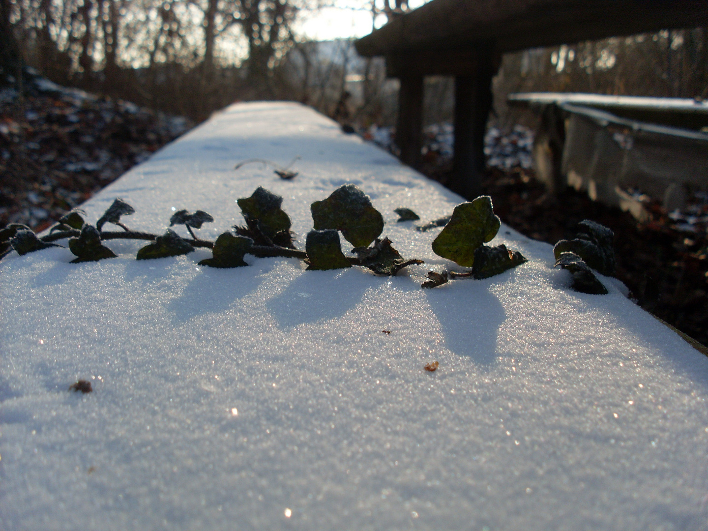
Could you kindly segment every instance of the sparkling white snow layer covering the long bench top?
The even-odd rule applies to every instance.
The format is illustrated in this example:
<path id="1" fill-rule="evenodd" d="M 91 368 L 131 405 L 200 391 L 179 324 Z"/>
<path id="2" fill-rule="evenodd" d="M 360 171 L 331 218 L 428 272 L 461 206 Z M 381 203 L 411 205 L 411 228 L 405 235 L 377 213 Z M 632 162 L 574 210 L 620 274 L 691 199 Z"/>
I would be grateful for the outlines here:
<path id="1" fill-rule="evenodd" d="M 293 181 L 233 170 L 296 155 Z M 440 229 L 393 210 L 460 199 L 313 110 L 232 105 L 84 207 L 95 222 L 122 197 L 154 232 L 202 209 L 214 239 L 263 185 L 303 247 L 310 203 L 345 183 L 426 265 L 218 270 L 205 250 L 138 262 L 130 241 L 0 263 L 2 530 L 708 529 L 708 360 L 618 282 L 569 290 L 551 246 L 506 226 L 493 244 L 529 263 L 421 290 L 452 265 Z M 80 378 L 93 393 L 67 390 Z"/>

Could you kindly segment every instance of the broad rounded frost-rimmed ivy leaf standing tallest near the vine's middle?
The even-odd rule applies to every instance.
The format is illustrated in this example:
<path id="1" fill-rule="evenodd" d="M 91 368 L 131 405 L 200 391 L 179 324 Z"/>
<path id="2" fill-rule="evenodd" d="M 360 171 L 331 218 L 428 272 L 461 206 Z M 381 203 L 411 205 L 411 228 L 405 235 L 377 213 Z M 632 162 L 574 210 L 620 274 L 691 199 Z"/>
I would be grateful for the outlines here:
<path id="1" fill-rule="evenodd" d="M 310 207 L 315 230 L 336 229 L 355 247 L 367 247 L 384 229 L 381 212 L 369 196 L 353 184 L 334 190 L 329 198 Z"/>

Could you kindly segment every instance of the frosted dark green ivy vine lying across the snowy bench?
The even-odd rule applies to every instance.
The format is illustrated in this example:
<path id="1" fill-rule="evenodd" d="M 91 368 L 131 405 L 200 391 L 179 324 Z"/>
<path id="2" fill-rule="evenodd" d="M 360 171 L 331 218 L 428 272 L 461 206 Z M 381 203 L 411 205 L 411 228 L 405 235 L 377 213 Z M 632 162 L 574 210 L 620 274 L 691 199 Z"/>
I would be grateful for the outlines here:
<path id="1" fill-rule="evenodd" d="M 291 231 L 290 217 L 282 210 L 282 198 L 265 188 L 258 187 L 249 198 L 236 201 L 244 217 L 244 225 L 232 227 L 219 235 L 216 241 L 200 239 L 195 234 L 205 223 L 214 222 L 207 212 L 178 210 L 169 219 L 169 227 L 183 225 L 189 237 L 167 228 L 164 234 L 132 231 L 122 222 L 122 217 L 135 213 L 135 209 L 118 198 L 96 221 L 86 223 L 85 213 L 74 210 L 52 227 L 50 234 L 38 236 L 22 224 L 10 224 L 0 230 L 0 259 L 16 251 L 25 255 L 48 247 L 62 247 L 55 241 L 68 239 L 69 251 L 76 258 L 72 263 L 100 261 L 117 255 L 105 242 L 111 239 L 135 239 L 149 243 L 137 251 L 137 260 L 151 260 L 166 256 L 180 256 L 195 248 L 212 250 L 212 258 L 200 265 L 213 268 L 237 268 L 249 265 L 247 254 L 259 258 L 283 256 L 299 258 L 307 263 L 308 270 L 333 270 L 359 266 L 376 275 L 396 275 L 408 265 L 422 264 L 418 258 L 404 258 L 394 249 L 392 241 L 384 236 L 381 212 L 375 209 L 370 198 L 354 185 L 344 185 L 328 198 L 311 205 L 313 229 L 307 234 L 305 250 L 295 247 L 295 234 Z M 396 209 L 399 222 L 420 219 L 408 208 Z M 107 224 L 120 227 L 120 231 L 103 230 Z M 456 278 L 489 278 L 525 263 L 519 252 L 505 245 L 486 246 L 496 236 L 501 222 L 494 214 L 491 198 L 481 196 L 472 202 L 455 207 L 452 216 L 416 227 L 426 231 L 444 227 L 433 240 L 433 252 L 457 263 L 464 272 L 430 271 L 422 287 L 432 288 Z M 346 256 L 341 249 L 339 234 L 353 245 Z M 573 275 L 573 288 L 586 293 L 607 293 L 595 277 L 593 269 L 610 275 L 614 272 L 615 258 L 612 251 L 614 234 L 607 227 L 590 221 L 581 222 L 575 239 L 556 244 L 556 267 L 566 268 Z"/>

